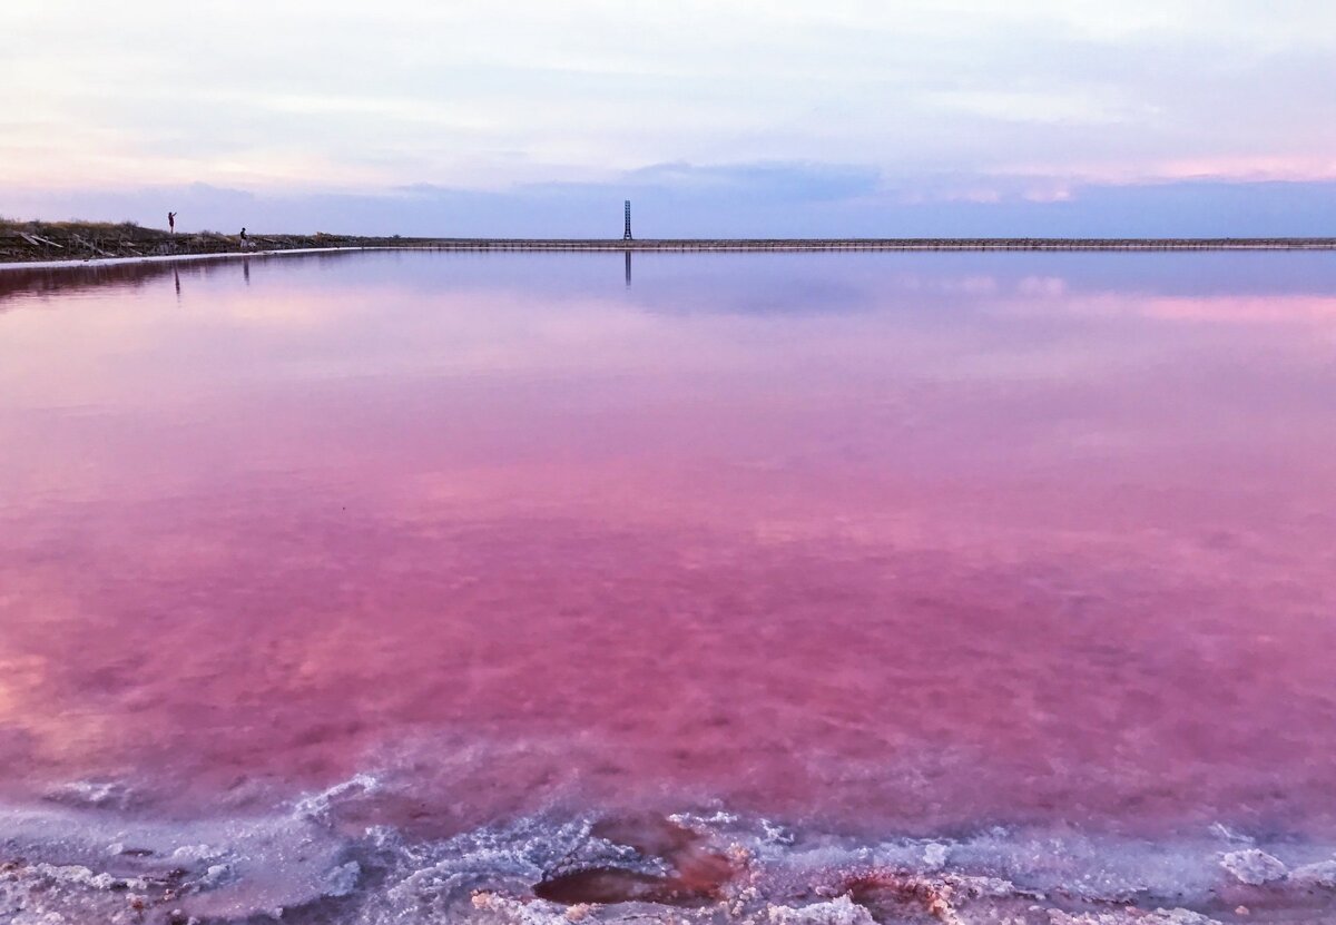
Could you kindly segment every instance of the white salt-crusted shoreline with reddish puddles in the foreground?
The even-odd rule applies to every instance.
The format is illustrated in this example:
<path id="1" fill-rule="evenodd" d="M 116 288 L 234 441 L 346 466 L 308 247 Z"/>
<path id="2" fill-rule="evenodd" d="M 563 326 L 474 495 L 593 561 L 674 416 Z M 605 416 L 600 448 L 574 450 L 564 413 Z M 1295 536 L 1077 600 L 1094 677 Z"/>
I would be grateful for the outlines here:
<path id="1" fill-rule="evenodd" d="M 192 818 L 108 803 L 87 785 L 41 805 L 0 802 L 0 898 L 32 920 L 218 925 L 278 910 L 478 925 L 1336 922 L 1332 843 L 1220 823 L 1170 837 L 1058 822 L 868 839 L 688 809 L 540 813 L 438 833 L 394 819 L 358 834 L 347 822 L 385 786 L 361 773 Z"/>

